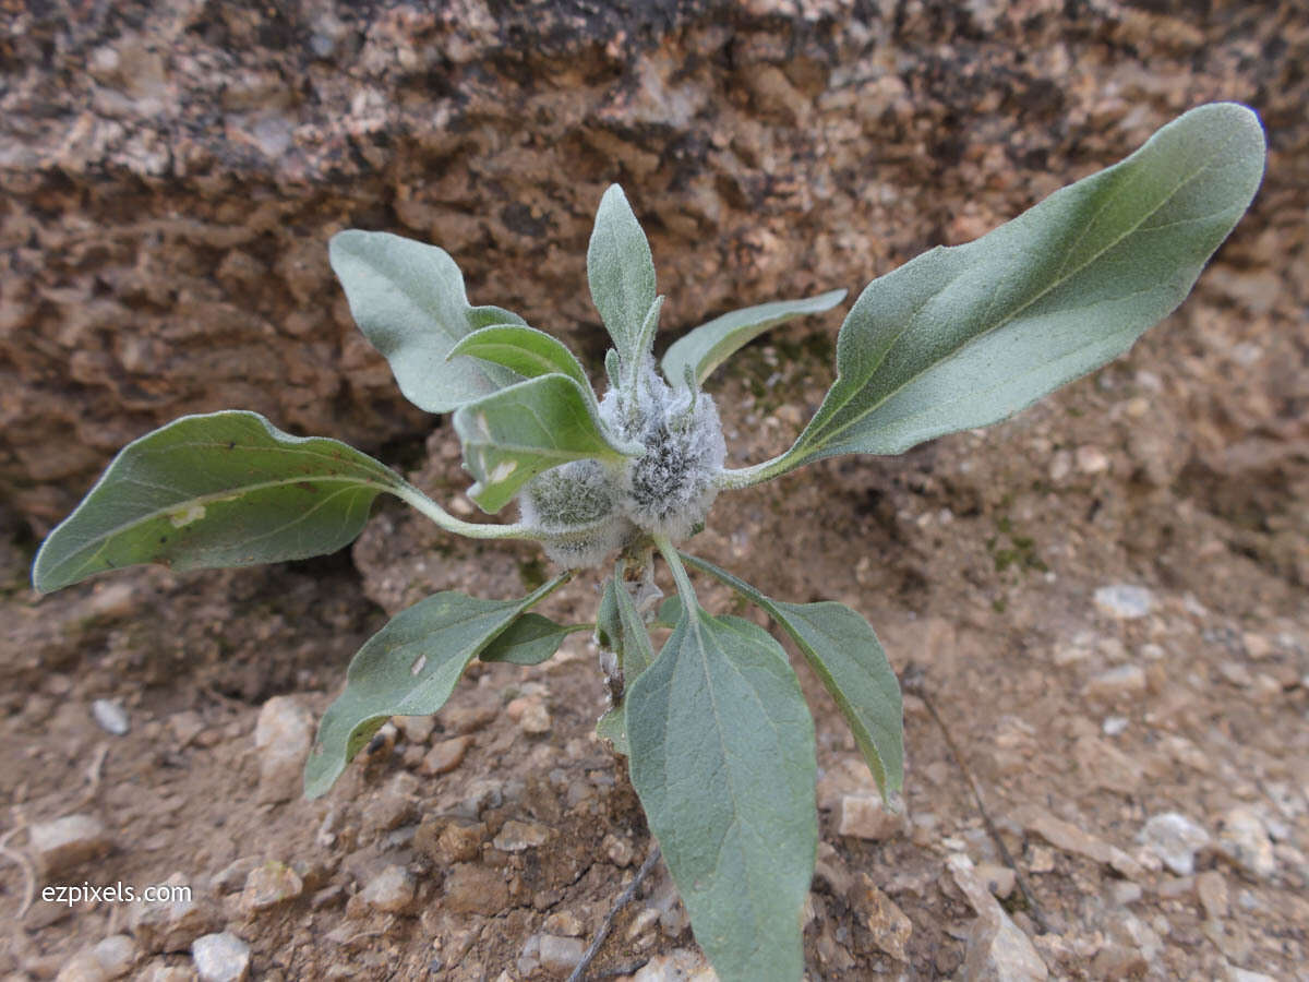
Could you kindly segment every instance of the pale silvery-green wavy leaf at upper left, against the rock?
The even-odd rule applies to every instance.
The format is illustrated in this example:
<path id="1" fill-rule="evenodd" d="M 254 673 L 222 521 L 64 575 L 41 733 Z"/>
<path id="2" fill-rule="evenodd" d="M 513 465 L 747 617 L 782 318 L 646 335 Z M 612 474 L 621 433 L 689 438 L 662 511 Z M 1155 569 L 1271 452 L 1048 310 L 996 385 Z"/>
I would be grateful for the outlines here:
<path id="1" fill-rule="evenodd" d="M 450 412 L 520 380 L 500 365 L 446 360 L 466 334 L 522 318 L 495 306 L 470 306 L 463 275 L 444 249 L 351 229 L 332 236 L 329 258 L 355 322 L 419 409 Z"/>

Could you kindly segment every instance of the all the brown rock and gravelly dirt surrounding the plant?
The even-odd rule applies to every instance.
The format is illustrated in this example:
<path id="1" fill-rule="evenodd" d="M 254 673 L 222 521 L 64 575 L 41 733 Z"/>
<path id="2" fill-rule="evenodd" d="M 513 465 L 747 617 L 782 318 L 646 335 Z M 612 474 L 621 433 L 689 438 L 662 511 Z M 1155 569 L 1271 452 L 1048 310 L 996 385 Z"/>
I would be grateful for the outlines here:
<path id="1" fill-rule="evenodd" d="M 384 505 L 336 556 L 27 588 L 35 541 L 109 456 L 187 411 L 342 436 L 462 507 L 453 435 L 350 323 L 331 232 L 436 241 L 475 302 L 597 364 L 584 254 L 611 179 L 649 232 L 670 339 L 857 289 L 1236 98 L 1268 130 L 1264 187 L 1128 357 L 986 432 L 724 496 L 691 549 L 772 596 L 855 606 L 918 680 L 907 820 L 868 829 L 870 778 L 797 660 L 822 774 L 810 978 L 987 977 L 987 915 L 952 872 L 969 856 L 1007 886 L 974 784 L 1050 977 L 1309 978 L 1296 4 L 0 9 L 0 973 L 192 978 L 194 939 L 226 930 L 255 978 L 559 978 L 649 848 L 590 736 L 603 687 L 576 636 L 538 668 L 476 666 L 435 725 L 406 721 L 319 801 L 278 770 L 387 614 L 433 589 L 518 593 L 547 573 L 528 547 Z M 716 377 L 734 464 L 817 407 L 838 325 L 791 326 Z M 1097 602 L 1114 585 L 1148 604 Z M 550 613 L 589 619 L 594 588 Z M 1169 813 L 1206 834 L 1190 872 L 1141 838 Z M 38 893 L 175 876 L 194 909 L 25 905 L 35 839 L 69 814 L 99 825 L 99 855 L 65 851 Z M 109 968 L 86 955 L 119 934 Z M 657 873 L 597 977 L 674 978 L 674 956 L 694 941 Z"/>

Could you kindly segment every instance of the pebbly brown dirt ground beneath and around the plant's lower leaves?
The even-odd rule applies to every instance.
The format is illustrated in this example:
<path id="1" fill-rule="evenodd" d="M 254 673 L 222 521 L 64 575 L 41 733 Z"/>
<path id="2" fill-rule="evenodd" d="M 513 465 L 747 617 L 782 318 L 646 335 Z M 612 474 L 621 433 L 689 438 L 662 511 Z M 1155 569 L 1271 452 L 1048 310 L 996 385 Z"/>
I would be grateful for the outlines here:
<path id="1" fill-rule="evenodd" d="M 774 596 L 860 609 L 906 680 L 897 817 L 800 664 L 821 765 L 809 978 L 1306 978 L 1304 437 L 1206 444 L 1280 398 L 1267 380 L 1300 342 L 1257 334 L 1242 283 L 1219 264 L 1128 359 L 1001 427 L 720 499 L 692 541 Z M 726 372 L 737 460 L 817 403 L 833 327 Z M 463 507 L 448 428 L 410 456 Z M 537 668 L 475 666 L 435 719 L 395 720 L 298 797 L 314 719 L 386 613 L 521 592 L 546 571 L 530 547 L 384 508 L 350 555 L 41 601 L 27 558 L 5 553 L 8 978 L 562 978 L 651 848 L 576 635 Z M 581 576 L 548 602 L 586 619 L 594 598 Z M 82 882 L 194 893 L 39 900 Z M 592 977 L 702 969 L 657 872 Z"/>

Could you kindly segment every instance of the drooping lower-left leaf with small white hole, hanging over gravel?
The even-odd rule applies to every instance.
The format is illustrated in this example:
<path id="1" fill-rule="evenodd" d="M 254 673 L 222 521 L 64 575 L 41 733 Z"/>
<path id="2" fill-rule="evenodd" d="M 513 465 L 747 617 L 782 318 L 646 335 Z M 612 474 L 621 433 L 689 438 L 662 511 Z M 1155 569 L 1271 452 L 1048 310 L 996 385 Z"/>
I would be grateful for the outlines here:
<path id="1" fill-rule="evenodd" d="M 449 591 L 393 617 L 355 655 L 346 690 L 318 724 L 305 763 L 305 797 L 326 793 L 391 716 L 440 710 L 469 663 L 565 579 L 556 577 L 520 600 L 478 600 Z"/>

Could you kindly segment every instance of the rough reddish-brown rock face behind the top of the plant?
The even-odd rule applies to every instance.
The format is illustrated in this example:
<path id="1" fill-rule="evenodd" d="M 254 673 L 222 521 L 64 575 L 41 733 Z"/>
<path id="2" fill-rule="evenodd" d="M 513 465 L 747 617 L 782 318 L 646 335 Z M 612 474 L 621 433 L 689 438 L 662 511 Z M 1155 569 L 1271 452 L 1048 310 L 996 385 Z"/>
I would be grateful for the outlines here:
<path id="1" fill-rule="evenodd" d="M 1208 289 L 1283 339 L 1263 418 L 1213 439 L 1304 448 L 1296 0 L 0 0 L 0 495 L 38 532 L 185 412 L 373 450 L 431 427 L 351 323 L 338 229 L 440 244 L 474 302 L 594 357 L 611 181 L 674 333 L 857 291 L 1211 100 L 1255 106 L 1271 156 Z"/>

